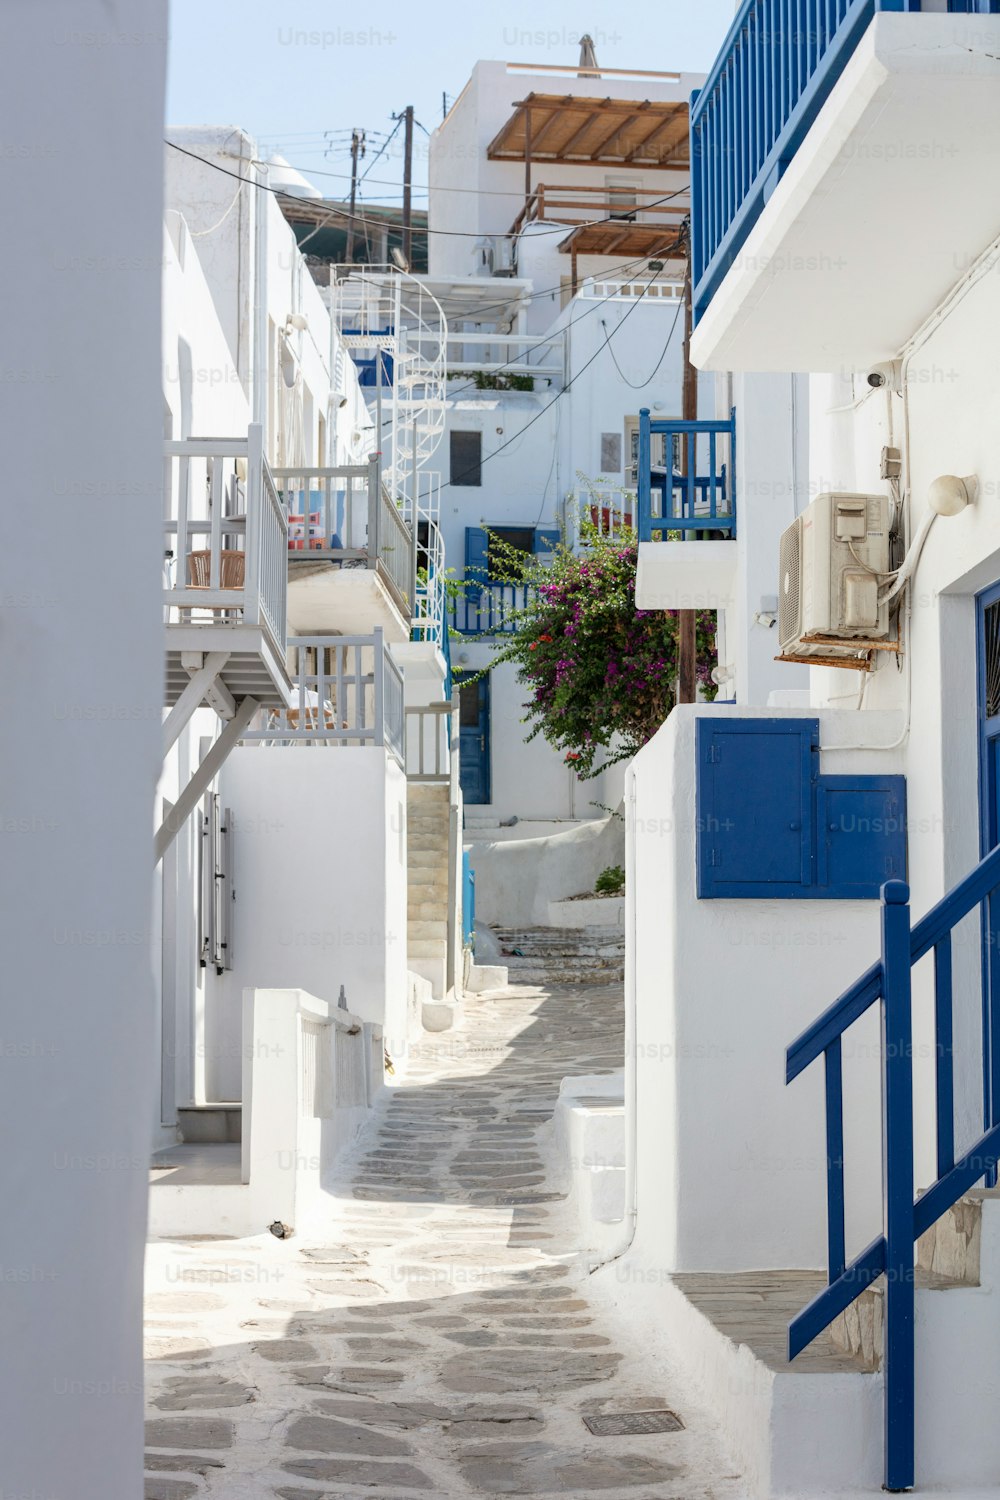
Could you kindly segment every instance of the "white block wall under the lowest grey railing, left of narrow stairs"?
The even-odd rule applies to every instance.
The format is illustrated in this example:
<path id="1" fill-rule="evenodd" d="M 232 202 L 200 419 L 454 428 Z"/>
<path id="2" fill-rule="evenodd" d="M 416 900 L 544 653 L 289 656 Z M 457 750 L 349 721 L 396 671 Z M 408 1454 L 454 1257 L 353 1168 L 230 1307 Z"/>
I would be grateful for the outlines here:
<path id="1" fill-rule="evenodd" d="M 241 996 L 300 988 L 405 1041 L 406 783 L 385 752 L 246 746 L 220 796 L 235 820 L 234 966 L 205 1002 L 210 1098 L 240 1098 Z M 400 1048 L 402 1052 L 402 1048 Z"/>

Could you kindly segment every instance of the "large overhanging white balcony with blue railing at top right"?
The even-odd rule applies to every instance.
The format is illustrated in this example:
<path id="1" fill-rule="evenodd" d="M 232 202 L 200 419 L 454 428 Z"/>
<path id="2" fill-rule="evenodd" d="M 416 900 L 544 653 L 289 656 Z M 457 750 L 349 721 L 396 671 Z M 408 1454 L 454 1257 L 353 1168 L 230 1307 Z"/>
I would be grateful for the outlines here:
<path id="1" fill-rule="evenodd" d="M 697 366 L 865 369 L 960 280 L 1000 228 L 999 9 L 744 0 L 691 108 Z"/>

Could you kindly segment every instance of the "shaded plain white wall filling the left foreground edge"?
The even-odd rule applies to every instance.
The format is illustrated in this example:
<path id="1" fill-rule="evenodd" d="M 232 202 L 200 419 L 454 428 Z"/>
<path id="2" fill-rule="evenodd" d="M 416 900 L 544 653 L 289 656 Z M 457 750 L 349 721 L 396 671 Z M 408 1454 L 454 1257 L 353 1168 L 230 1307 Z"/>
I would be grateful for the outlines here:
<path id="1" fill-rule="evenodd" d="M 3 1491 L 132 1500 L 163 675 L 166 8 L 52 0 L 7 10 L 3 30 Z M 37 232 L 42 200 L 58 204 L 58 231 Z"/>

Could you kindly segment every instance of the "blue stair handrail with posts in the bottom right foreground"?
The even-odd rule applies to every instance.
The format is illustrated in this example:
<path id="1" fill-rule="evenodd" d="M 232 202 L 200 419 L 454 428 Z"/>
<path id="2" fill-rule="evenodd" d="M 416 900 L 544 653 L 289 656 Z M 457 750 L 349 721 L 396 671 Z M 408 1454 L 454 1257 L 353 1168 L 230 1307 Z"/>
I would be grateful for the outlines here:
<path id="1" fill-rule="evenodd" d="M 955 886 L 916 927 L 903 880 L 882 888 L 882 958 L 846 990 L 802 1035 L 786 1058 L 786 1083 L 823 1058 L 826 1074 L 826 1238 L 829 1284 L 789 1324 L 795 1359 L 865 1287 L 885 1274 L 885 1488 L 913 1484 L 915 1256 L 921 1234 L 981 1178 L 994 1180 L 1000 1160 L 1000 982 L 996 934 L 1000 904 L 1000 849 Z M 985 1132 L 955 1156 L 955 1066 L 952 1018 L 952 932 L 982 909 L 984 986 L 982 1058 Z M 937 1095 L 937 1180 L 913 1196 L 913 1026 L 910 970 L 934 954 Z M 841 1038 L 882 1000 L 883 1020 L 883 1232 L 852 1262 L 844 1242 L 844 1086 Z"/>

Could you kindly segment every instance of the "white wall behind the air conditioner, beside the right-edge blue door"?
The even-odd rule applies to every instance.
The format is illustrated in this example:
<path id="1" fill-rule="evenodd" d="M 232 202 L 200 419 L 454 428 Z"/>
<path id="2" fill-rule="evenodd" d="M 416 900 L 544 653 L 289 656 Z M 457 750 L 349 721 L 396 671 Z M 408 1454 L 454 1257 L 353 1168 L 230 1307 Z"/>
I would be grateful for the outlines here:
<path id="1" fill-rule="evenodd" d="M 814 486 L 883 494 L 883 444 L 901 447 L 909 489 L 909 534 L 927 512 L 940 474 L 976 474 L 976 504 L 934 522 L 910 585 L 904 657 L 880 662 L 864 706 L 897 708 L 907 720 L 903 742 L 909 800 L 910 888 L 915 918 L 960 880 L 979 858 L 978 698 L 975 596 L 1000 579 L 1000 356 L 984 328 L 1000 318 L 996 268 L 960 284 L 946 312 L 927 332 L 903 369 L 903 394 L 885 390 L 855 411 L 837 411 L 862 394 L 849 375 L 811 378 L 811 472 Z M 907 444 L 909 438 L 909 444 Z M 847 674 L 814 669 L 817 702 L 838 702 Z M 853 687 L 853 682 L 849 684 Z M 856 690 L 847 699 L 858 702 Z M 858 716 L 861 718 L 861 716 Z M 865 720 L 861 720 L 862 724 Z M 864 729 L 862 729 L 864 732 Z M 957 1143 L 981 1132 L 979 938 L 967 922 L 955 945 Z M 933 1006 L 927 964 L 915 974 L 918 1184 L 934 1172 Z"/>

